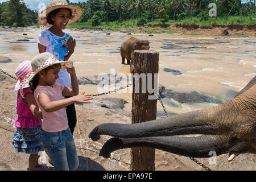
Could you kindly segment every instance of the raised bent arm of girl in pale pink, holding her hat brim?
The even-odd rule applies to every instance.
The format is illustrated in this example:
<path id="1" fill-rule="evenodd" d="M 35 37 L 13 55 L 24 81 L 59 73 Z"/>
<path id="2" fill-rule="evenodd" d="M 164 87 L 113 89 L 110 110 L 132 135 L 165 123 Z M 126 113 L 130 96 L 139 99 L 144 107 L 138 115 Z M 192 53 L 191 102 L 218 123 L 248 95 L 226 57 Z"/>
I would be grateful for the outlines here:
<path id="1" fill-rule="evenodd" d="M 62 91 L 63 96 L 76 96 L 79 94 L 79 84 L 77 82 L 76 70 L 74 67 L 67 68 L 67 71 L 71 77 L 71 88 L 64 86 Z"/>

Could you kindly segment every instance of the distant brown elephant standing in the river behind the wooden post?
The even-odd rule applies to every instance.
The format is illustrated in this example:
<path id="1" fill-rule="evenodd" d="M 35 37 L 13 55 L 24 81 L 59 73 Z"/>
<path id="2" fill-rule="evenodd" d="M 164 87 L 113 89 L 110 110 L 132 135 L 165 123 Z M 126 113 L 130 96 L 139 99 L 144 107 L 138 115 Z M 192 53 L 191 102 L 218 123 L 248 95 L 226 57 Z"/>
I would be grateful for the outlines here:
<path id="1" fill-rule="evenodd" d="M 134 50 L 148 50 L 149 48 L 148 40 L 131 37 L 121 45 L 120 53 L 122 56 L 122 64 L 125 64 L 125 58 L 127 59 L 127 64 L 130 64 Z"/>

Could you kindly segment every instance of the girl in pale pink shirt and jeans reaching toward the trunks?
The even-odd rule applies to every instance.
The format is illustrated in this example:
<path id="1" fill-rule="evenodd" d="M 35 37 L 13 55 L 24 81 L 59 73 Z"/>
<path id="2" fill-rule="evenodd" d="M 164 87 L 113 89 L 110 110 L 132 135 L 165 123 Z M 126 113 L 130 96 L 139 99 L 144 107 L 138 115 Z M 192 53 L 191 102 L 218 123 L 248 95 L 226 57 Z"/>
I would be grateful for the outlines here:
<path id="1" fill-rule="evenodd" d="M 32 72 L 23 79 L 20 90 L 30 82 L 36 103 L 42 110 L 40 139 L 44 150 L 55 170 L 76 170 L 79 160 L 65 107 L 73 103 L 90 103 L 93 97 L 84 92 L 79 94 L 76 71 L 71 61 L 59 61 L 51 53 L 44 52 L 35 56 L 31 65 Z M 65 68 L 71 76 L 71 88 L 56 82 L 60 70 Z M 72 97 L 63 99 L 63 96 Z"/>

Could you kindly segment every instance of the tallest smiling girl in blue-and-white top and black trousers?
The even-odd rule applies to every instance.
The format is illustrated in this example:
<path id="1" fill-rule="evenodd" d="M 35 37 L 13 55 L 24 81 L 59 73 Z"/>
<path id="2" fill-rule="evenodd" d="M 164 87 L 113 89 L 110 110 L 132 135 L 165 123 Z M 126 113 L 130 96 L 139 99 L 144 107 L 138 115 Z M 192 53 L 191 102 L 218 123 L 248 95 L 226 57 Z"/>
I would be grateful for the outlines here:
<path id="1" fill-rule="evenodd" d="M 64 0 L 51 1 L 47 9 L 38 15 L 38 22 L 43 26 L 50 27 L 39 35 L 39 53 L 49 52 L 57 60 L 67 61 L 74 52 L 76 39 L 73 39 L 71 35 L 63 32 L 63 30 L 68 24 L 76 22 L 81 16 L 82 9 L 80 7 L 68 5 Z M 71 86 L 71 80 L 66 69 L 60 71 L 59 78 L 56 81 L 64 86 Z M 69 128 L 73 134 L 76 126 L 75 105 L 69 105 L 66 111 Z"/>

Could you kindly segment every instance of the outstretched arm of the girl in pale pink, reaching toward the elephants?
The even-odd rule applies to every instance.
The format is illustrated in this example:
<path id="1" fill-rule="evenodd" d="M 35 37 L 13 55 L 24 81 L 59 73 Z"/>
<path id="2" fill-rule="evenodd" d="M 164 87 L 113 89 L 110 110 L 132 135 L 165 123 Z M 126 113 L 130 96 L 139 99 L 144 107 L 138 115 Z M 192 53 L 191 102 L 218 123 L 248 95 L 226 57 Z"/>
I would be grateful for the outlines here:
<path id="1" fill-rule="evenodd" d="M 77 104 L 85 104 L 85 103 L 91 103 L 93 96 L 90 94 L 85 94 L 85 92 L 82 92 L 81 94 L 78 94 L 77 96 L 65 98 L 63 100 L 59 101 L 51 101 L 49 100 L 49 97 L 45 93 L 40 93 L 38 95 L 38 101 L 40 105 L 43 107 L 43 109 L 47 112 L 53 112 L 59 109 L 62 109 L 68 105 L 71 105 L 73 103 Z"/>

